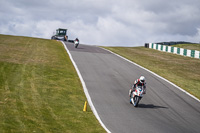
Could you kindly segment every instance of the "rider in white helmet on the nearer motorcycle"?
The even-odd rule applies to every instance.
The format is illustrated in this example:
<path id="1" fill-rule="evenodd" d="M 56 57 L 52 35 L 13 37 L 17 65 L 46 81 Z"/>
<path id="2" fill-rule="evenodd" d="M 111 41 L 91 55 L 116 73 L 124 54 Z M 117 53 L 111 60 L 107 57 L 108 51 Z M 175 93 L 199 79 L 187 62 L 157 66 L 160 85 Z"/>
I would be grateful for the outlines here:
<path id="1" fill-rule="evenodd" d="M 129 91 L 129 96 L 131 97 L 131 94 L 133 91 L 135 91 L 137 86 L 142 86 L 143 88 L 143 94 L 146 94 L 146 82 L 145 82 L 145 77 L 144 76 L 140 76 L 139 79 L 136 79 L 132 88 Z"/>

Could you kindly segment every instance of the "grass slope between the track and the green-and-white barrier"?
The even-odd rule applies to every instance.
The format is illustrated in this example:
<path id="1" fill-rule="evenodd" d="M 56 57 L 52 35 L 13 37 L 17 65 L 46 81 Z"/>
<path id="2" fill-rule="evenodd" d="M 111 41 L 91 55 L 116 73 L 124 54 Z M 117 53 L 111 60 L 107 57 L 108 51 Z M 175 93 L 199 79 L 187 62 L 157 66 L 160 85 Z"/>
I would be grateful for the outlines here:
<path id="1" fill-rule="evenodd" d="M 157 73 L 200 99 L 200 59 L 144 47 L 104 48 Z"/>

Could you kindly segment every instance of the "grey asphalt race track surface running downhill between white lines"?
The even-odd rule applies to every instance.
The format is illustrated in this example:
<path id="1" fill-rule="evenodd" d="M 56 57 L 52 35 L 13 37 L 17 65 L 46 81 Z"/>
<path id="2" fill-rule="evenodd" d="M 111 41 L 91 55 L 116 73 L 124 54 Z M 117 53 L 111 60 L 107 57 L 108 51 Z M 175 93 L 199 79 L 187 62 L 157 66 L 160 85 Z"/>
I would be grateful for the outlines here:
<path id="1" fill-rule="evenodd" d="M 65 42 L 93 104 L 113 133 L 200 132 L 200 103 L 153 74 L 95 46 Z M 128 91 L 144 75 L 147 94 L 134 108 Z"/>

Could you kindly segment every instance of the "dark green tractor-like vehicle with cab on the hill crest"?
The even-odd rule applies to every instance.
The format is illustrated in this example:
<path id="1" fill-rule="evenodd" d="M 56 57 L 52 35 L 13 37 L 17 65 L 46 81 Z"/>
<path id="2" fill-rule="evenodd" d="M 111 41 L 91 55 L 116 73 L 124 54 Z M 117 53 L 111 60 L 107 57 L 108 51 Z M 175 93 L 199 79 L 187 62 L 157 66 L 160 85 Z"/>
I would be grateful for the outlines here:
<path id="1" fill-rule="evenodd" d="M 51 37 L 51 39 L 52 40 L 67 41 L 68 40 L 67 29 L 62 29 L 62 28 L 57 29 L 56 33 L 53 34 L 53 36 Z"/>

